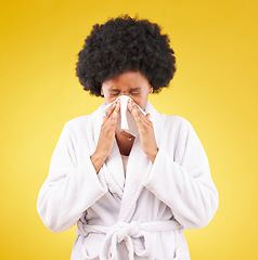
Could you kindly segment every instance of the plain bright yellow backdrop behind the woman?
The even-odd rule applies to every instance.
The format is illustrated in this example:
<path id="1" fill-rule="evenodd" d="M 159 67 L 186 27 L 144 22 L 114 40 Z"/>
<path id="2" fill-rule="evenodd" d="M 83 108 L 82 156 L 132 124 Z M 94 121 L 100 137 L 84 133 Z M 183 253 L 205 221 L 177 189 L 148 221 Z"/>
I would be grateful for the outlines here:
<path id="1" fill-rule="evenodd" d="M 53 234 L 36 202 L 64 123 L 103 102 L 75 77 L 95 23 L 139 13 L 171 39 L 178 72 L 150 101 L 195 128 L 220 195 L 203 230 L 185 232 L 192 260 L 257 259 L 257 61 L 255 0 L 1 0 L 0 259 L 69 259 L 75 227 Z"/>

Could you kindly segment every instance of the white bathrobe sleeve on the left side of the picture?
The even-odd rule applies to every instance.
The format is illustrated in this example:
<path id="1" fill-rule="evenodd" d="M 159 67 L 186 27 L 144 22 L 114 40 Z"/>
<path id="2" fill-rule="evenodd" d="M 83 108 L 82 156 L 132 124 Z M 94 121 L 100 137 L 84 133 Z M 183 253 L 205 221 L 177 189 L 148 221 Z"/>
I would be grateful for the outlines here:
<path id="1" fill-rule="evenodd" d="M 52 155 L 49 176 L 38 195 L 38 213 L 52 232 L 75 225 L 83 211 L 107 192 L 90 155 L 83 156 L 83 164 L 77 162 L 76 138 L 66 123 Z"/>

